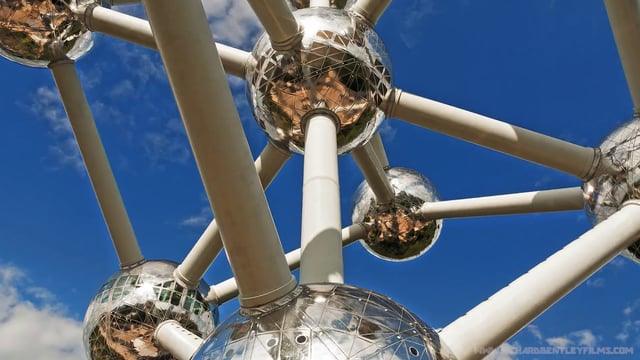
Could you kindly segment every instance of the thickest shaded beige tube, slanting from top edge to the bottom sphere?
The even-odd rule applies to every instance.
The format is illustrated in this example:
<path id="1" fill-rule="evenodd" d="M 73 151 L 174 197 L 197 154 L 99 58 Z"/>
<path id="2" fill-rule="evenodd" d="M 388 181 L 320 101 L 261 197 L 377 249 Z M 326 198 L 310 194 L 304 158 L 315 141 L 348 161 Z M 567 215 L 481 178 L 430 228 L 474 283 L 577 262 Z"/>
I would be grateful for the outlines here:
<path id="1" fill-rule="evenodd" d="M 143 0 L 143 4 L 238 281 L 240 305 L 269 303 L 294 289 L 296 281 L 289 272 L 202 3 Z"/>

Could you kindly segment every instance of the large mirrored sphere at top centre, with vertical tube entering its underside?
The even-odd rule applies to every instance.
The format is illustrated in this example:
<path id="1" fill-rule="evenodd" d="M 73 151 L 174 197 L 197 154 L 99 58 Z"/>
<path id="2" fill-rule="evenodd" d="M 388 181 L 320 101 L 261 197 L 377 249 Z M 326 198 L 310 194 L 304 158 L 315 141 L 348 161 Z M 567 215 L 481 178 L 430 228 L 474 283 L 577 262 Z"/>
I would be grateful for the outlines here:
<path id="1" fill-rule="evenodd" d="M 263 35 L 247 66 L 254 116 L 277 146 L 304 152 L 304 124 L 314 111 L 338 123 L 338 152 L 367 142 L 384 118 L 391 92 L 391 62 L 378 35 L 344 10 L 310 8 L 295 13 L 303 27 L 295 50 L 276 51 Z"/>

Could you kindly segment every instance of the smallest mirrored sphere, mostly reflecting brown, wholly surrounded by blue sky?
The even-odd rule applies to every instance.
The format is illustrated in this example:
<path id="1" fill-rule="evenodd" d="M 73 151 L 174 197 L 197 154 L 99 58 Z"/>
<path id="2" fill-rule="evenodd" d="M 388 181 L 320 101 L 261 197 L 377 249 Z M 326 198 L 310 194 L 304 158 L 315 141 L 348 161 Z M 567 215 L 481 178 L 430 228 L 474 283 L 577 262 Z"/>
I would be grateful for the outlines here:
<path id="1" fill-rule="evenodd" d="M 389 261 L 406 261 L 427 252 L 440 236 L 442 219 L 417 214 L 425 202 L 439 201 L 429 179 L 406 168 L 386 171 L 395 192 L 387 204 L 377 203 L 366 181 L 356 189 L 351 213 L 353 223 L 366 223 L 369 231 L 362 245 L 371 254 Z"/>

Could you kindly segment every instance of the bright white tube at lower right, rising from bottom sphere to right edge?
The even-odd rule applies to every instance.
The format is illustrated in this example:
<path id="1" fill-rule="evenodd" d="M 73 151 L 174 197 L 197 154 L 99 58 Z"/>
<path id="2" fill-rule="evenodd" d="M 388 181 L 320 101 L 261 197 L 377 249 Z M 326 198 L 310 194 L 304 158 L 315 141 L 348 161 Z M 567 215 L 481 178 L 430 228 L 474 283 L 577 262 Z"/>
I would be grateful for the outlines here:
<path id="1" fill-rule="evenodd" d="M 447 325 L 440 340 L 458 360 L 481 359 L 640 237 L 640 203 L 617 213 Z"/>

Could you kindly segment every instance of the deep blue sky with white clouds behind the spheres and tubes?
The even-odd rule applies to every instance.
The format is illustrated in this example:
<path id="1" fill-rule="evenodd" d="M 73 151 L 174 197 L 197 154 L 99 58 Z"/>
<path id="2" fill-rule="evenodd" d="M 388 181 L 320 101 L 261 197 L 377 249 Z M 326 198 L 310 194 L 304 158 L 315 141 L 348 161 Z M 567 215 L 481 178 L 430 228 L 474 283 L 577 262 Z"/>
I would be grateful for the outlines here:
<path id="1" fill-rule="evenodd" d="M 250 50 L 260 29 L 244 2 L 204 4 L 217 40 Z M 122 10 L 142 16 L 135 7 Z M 395 85 L 414 94 L 585 146 L 632 114 L 601 0 L 395 1 L 378 32 Z M 143 253 L 181 261 L 211 213 L 158 55 L 97 35 L 78 69 Z M 0 61 L 0 73 L 0 358 L 82 359 L 80 322 L 117 259 L 50 74 L 9 61 Z M 266 138 L 242 81 L 230 81 L 257 154 Z M 398 120 L 383 125 L 382 137 L 391 164 L 423 173 L 445 200 L 580 185 Z M 301 176 L 302 157 L 294 156 L 267 191 L 287 251 L 299 246 Z M 361 181 L 342 157 L 345 226 Z M 445 220 L 432 250 L 411 262 L 383 262 L 359 244 L 346 248 L 346 279 L 440 328 L 589 228 L 582 211 Z M 205 279 L 229 276 L 221 256 Z M 637 357 L 638 276 L 640 266 L 618 257 L 492 358 L 578 358 L 508 351 L 563 343 L 634 347 Z M 234 306 L 223 306 L 222 316 Z M 38 333 L 37 344 L 19 336 Z"/>

